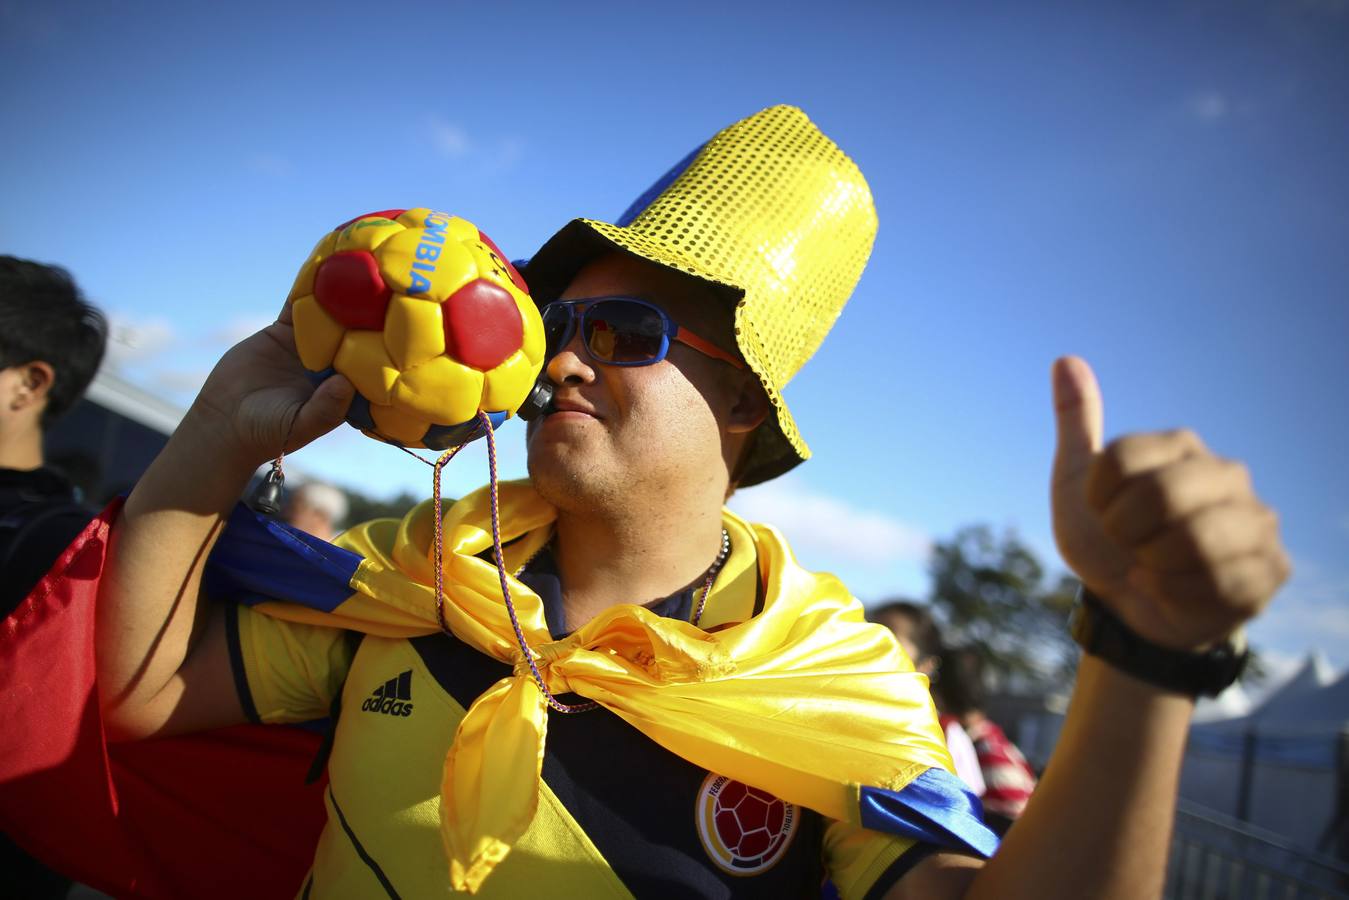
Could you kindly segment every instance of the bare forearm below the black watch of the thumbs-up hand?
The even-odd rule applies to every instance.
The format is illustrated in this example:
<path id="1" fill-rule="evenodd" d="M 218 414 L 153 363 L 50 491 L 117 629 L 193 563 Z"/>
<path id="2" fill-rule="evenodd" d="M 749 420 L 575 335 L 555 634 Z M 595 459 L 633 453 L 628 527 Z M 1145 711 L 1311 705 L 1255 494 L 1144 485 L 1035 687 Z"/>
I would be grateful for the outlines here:
<path id="1" fill-rule="evenodd" d="M 1160 896 L 1193 711 L 1083 656 L 1044 779 L 967 896 Z"/>

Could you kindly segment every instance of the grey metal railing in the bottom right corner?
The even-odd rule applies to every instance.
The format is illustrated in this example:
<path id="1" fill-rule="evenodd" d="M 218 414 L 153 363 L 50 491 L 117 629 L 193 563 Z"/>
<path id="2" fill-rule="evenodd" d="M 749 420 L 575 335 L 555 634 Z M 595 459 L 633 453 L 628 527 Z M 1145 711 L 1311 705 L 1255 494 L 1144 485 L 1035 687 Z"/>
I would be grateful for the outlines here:
<path id="1" fill-rule="evenodd" d="M 1349 899 L 1349 864 L 1180 800 L 1164 896 L 1168 900 Z"/>

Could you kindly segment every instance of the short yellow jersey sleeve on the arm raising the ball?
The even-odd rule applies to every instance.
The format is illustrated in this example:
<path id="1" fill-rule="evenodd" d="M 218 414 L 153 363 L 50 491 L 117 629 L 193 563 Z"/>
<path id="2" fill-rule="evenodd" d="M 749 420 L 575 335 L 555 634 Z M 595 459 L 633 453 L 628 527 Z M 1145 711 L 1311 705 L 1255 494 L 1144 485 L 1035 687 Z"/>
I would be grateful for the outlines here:
<path id="1" fill-rule="evenodd" d="M 343 629 L 301 625 L 239 606 L 227 618 L 235 685 L 254 722 L 308 722 L 329 714 L 356 642 Z"/>

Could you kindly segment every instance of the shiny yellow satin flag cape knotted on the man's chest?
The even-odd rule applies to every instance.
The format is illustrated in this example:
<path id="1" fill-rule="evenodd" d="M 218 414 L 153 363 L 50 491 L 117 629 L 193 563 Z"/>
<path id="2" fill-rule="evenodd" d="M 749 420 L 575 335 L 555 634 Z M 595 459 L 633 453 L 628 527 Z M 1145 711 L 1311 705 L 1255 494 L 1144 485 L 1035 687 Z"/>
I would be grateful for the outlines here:
<path id="1" fill-rule="evenodd" d="M 399 524 L 357 526 L 337 544 L 364 557 L 333 613 L 258 607 L 295 621 L 411 637 L 438 630 L 430 501 Z M 507 571 L 550 537 L 553 507 L 523 482 L 500 486 Z M 723 511 L 731 553 L 703 626 L 615 606 L 554 641 L 538 595 L 509 578 L 525 637 L 554 694 L 598 702 L 697 766 L 858 824 L 858 789 L 898 791 L 951 770 L 927 679 L 832 575 L 804 571 L 772 528 Z M 498 572 L 483 488 L 445 515 L 445 619 L 455 637 L 514 667 L 469 707 L 445 757 L 441 835 L 451 884 L 476 892 L 538 806 L 548 706 L 521 658 Z M 764 584 L 759 615 L 753 609 Z M 730 617 L 730 621 L 727 621 Z"/>

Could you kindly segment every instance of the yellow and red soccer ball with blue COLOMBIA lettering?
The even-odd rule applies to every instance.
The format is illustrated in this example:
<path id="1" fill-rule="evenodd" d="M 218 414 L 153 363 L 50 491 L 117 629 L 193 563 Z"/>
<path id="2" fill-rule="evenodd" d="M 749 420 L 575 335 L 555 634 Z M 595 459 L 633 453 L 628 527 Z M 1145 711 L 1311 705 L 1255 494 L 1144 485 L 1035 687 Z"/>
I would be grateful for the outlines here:
<path id="1" fill-rule="evenodd" d="M 529 395 L 544 322 L 487 235 L 432 209 L 357 216 L 324 236 L 289 302 L 299 362 L 356 386 L 347 421 L 370 437 L 445 449 Z"/>

